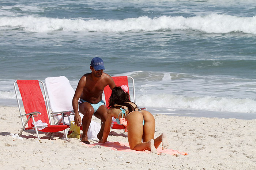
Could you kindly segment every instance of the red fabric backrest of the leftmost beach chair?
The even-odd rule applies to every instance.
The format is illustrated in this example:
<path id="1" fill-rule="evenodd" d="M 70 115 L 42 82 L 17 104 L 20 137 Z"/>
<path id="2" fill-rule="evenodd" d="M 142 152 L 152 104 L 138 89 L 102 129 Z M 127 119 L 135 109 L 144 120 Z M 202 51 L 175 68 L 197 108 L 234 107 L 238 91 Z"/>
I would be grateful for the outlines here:
<path id="1" fill-rule="evenodd" d="M 17 80 L 20 95 L 26 114 L 38 111 L 41 115 L 34 117 L 35 121 L 42 120 L 49 123 L 49 115 L 46 110 L 44 96 L 39 86 L 38 80 Z M 29 116 L 27 116 L 28 118 Z M 29 119 L 28 126 L 32 127 L 32 119 Z"/>

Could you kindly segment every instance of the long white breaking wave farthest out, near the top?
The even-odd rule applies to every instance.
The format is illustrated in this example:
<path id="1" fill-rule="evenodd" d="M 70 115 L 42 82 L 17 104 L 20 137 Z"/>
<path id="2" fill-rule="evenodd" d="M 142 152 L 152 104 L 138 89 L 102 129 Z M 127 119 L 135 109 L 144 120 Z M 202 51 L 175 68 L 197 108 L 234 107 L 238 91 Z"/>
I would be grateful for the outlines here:
<path id="1" fill-rule="evenodd" d="M 256 16 L 237 17 L 217 13 L 194 17 L 160 16 L 150 18 L 141 16 L 123 20 L 59 19 L 36 16 L 0 17 L 0 27 L 19 27 L 31 32 L 196 30 L 207 33 L 243 32 L 256 34 L 255 25 Z"/>

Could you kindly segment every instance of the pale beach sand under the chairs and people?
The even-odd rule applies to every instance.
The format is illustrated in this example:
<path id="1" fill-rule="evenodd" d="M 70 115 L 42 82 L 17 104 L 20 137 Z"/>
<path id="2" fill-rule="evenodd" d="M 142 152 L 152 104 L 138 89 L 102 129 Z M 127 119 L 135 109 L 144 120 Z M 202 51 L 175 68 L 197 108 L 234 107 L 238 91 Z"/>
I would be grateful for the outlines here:
<path id="1" fill-rule="evenodd" d="M 52 139 L 35 131 L 18 134 L 18 107 L 0 107 L 0 169 L 256 169 L 256 119 L 195 118 L 154 115 L 155 137 L 166 132 L 170 149 L 189 155 L 147 154 L 87 147 L 79 139 Z M 95 122 L 99 119 L 93 116 Z M 108 141 L 128 143 L 123 130 L 111 130 Z M 91 143 L 97 141 L 90 140 Z"/>

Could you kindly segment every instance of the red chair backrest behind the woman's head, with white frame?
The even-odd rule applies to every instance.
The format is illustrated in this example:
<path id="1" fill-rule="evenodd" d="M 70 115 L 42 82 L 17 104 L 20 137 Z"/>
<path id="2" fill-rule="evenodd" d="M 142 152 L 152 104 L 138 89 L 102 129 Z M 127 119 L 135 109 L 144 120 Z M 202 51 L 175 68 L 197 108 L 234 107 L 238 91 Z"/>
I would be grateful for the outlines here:
<path id="1" fill-rule="evenodd" d="M 127 85 L 128 86 L 128 78 L 132 79 L 132 86 L 133 86 L 133 102 L 135 102 L 135 90 L 134 90 L 134 80 L 132 77 L 128 76 L 114 76 L 112 77 L 116 86 L 122 86 L 122 85 Z M 128 86 L 129 88 L 129 86 Z M 111 96 L 112 90 L 109 88 L 109 86 L 106 86 L 104 88 L 104 95 L 105 95 L 105 101 L 106 101 L 106 106 L 109 106 L 109 98 Z M 128 90 L 129 93 L 129 90 Z M 129 93 L 130 94 L 130 93 Z"/>

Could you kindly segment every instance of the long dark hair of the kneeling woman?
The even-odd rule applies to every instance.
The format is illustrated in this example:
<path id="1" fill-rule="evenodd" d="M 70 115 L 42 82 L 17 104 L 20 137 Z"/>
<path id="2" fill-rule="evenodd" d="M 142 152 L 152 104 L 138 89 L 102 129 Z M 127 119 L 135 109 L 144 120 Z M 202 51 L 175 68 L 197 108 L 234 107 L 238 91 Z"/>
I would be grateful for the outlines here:
<path id="1" fill-rule="evenodd" d="M 123 108 L 122 106 L 126 106 L 129 112 L 135 111 L 135 109 L 138 108 L 138 106 L 134 103 L 136 107 L 133 107 L 129 102 L 131 102 L 131 100 L 128 92 L 125 93 L 121 87 L 113 88 L 111 96 L 109 98 L 110 108 Z"/>

